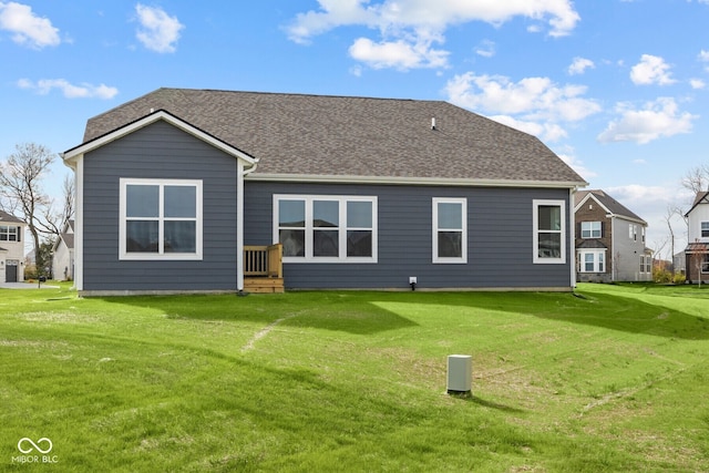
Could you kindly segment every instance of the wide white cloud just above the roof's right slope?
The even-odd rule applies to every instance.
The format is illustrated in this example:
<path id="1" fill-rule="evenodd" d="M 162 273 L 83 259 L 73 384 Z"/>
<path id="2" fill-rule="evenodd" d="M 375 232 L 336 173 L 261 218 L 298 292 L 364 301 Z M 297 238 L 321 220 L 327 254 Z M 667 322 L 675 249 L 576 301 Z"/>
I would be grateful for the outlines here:
<path id="1" fill-rule="evenodd" d="M 508 126 L 557 141 L 566 136 L 563 124 L 578 122 L 600 111 L 584 99 L 583 85 L 558 85 L 548 78 L 526 78 L 512 82 L 501 75 L 456 75 L 445 86 L 449 100 L 483 113 Z"/>

